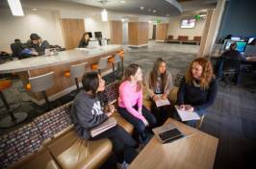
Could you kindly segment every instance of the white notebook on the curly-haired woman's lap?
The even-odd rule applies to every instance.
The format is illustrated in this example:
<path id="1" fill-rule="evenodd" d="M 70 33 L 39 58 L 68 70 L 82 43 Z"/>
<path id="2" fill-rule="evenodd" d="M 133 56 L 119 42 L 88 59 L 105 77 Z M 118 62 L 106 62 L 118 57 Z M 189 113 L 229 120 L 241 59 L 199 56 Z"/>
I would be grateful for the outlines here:
<path id="1" fill-rule="evenodd" d="M 174 106 L 175 109 L 177 109 L 177 112 L 181 118 L 182 121 L 189 121 L 189 120 L 198 120 L 200 119 L 200 116 L 197 114 L 196 111 L 188 111 L 188 110 L 181 110 L 179 109 L 178 105 Z M 191 107 L 190 105 L 185 105 L 185 108 Z"/>

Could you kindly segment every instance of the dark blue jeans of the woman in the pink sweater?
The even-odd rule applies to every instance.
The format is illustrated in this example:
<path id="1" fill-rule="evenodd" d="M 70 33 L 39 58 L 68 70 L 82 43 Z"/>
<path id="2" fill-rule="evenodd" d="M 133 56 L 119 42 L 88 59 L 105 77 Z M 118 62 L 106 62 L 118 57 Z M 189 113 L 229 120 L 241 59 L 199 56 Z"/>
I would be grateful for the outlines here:
<path id="1" fill-rule="evenodd" d="M 133 108 L 138 109 L 137 104 Z M 126 108 L 118 107 L 117 110 L 125 120 L 127 120 L 129 123 L 131 123 L 135 127 L 135 130 L 136 130 L 137 133 L 139 133 L 139 134 L 144 133 L 145 125 L 141 121 L 141 119 L 135 117 Z M 144 106 L 142 106 L 141 111 L 142 111 L 142 115 L 147 120 L 147 122 L 149 124 L 149 127 L 154 128 L 156 123 L 157 123 L 157 120 L 156 120 L 155 116 L 148 109 L 146 109 Z"/>

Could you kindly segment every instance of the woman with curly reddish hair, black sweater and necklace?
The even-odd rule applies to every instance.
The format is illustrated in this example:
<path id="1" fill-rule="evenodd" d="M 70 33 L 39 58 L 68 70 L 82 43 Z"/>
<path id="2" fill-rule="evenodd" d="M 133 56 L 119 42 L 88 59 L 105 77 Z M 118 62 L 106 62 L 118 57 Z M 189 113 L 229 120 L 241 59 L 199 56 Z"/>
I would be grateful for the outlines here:
<path id="1" fill-rule="evenodd" d="M 214 105 L 218 92 L 218 82 L 213 73 L 210 60 L 197 58 L 192 61 L 185 77 L 182 79 L 177 94 L 176 105 L 184 110 L 185 105 L 189 111 L 196 111 L 201 117 L 206 109 Z M 177 112 L 173 113 L 173 119 L 181 121 Z M 184 121 L 183 123 L 194 127 L 197 120 Z"/>

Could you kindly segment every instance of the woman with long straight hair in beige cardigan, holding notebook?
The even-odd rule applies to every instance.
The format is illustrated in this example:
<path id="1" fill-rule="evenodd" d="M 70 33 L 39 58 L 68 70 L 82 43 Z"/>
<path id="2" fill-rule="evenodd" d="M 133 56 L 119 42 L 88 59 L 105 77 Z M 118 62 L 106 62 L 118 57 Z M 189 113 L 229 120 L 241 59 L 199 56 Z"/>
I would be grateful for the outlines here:
<path id="1" fill-rule="evenodd" d="M 166 121 L 168 106 L 157 107 L 156 101 L 166 100 L 172 88 L 172 78 L 166 70 L 166 61 L 158 58 L 154 62 L 153 69 L 145 74 L 145 90 L 151 101 L 151 111 L 157 119 L 157 125 L 162 126 Z M 162 94 L 161 97 L 157 95 Z"/>

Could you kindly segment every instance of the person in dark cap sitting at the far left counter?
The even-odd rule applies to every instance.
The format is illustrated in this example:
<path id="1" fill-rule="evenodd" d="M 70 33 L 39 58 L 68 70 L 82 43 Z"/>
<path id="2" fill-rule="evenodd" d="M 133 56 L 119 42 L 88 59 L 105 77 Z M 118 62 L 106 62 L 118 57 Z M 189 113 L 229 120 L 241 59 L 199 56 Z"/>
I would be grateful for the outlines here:
<path id="1" fill-rule="evenodd" d="M 33 55 L 44 55 L 45 54 L 45 49 L 50 48 L 50 44 L 48 43 L 47 40 L 43 40 L 40 36 L 37 34 L 32 34 L 30 36 L 31 42 L 23 43 L 21 44 L 21 47 L 24 48 L 25 50 L 29 48 L 34 48 L 35 52 Z"/>

